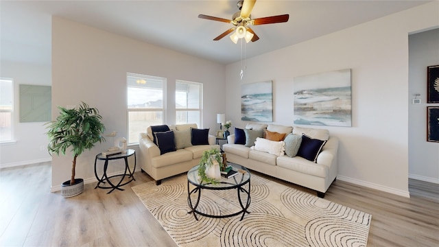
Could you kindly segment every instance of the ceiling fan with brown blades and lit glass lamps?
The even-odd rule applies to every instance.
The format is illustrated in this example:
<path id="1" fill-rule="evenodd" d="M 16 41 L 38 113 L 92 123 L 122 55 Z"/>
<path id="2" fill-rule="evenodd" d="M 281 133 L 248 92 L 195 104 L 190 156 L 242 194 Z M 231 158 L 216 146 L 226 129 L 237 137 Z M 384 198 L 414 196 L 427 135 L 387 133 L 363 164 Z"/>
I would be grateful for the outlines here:
<path id="1" fill-rule="evenodd" d="M 225 23 L 232 23 L 235 27 L 232 27 L 226 32 L 219 34 L 219 36 L 217 36 L 213 40 L 220 40 L 224 38 L 224 36 L 236 30 L 236 32 L 230 36 L 230 39 L 235 44 L 238 42 L 239 38 L 245 38 L 247 43 L 250 42 L 250 40 L 252 42 L 259 40 L 257 34 L 254 33 L 254 31 L 249 27 L 249 25 L 283 23 L 283 22 L 287 22 L 289 19 L 289 14 L 281 14 L 278 16 L 268 16 L 263 18 L 252 19 L 250 12 L 252 12 L 254 3 L 256 3 L 256 0 L 238 1 L 237 6 L 240 11 L 233 14 L 231 20 L 223 19 L 215 16 L 208 16 L 205 14 L 199 14 L 198 18 L 208 19 L 212 21 L 221 21 Z"/>

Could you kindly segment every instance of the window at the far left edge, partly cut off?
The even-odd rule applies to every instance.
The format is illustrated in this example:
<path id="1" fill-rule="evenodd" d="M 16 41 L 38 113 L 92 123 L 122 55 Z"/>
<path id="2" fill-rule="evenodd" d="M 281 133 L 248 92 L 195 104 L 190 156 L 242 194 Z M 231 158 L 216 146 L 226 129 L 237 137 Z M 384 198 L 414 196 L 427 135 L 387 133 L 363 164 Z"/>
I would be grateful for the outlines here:
<path id="1" fill-rule="evenodd" d="M 14 83 L 11 79 L 0 80 L 0 142 L 12 141 L 14 116 Z"/>

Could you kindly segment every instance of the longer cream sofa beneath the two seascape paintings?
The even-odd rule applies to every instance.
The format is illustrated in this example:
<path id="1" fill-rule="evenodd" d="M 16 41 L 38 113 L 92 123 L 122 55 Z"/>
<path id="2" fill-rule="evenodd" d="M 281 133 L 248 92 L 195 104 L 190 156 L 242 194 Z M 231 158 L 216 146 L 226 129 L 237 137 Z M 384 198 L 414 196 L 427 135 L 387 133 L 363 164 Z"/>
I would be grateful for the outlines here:
<path id="1" fill-rule="evenodd" d="M 235 134 L 230 134 L 228 143 L 222 149 L 226 152 L 227 161 L 244 165 L 263 174 L 280 178 L 290 183 L 295 183 L 309 189 L 317 191 L 320 198 L 324 198 L 324 193 L 333 183 L 337 176 L 337 150 L 338 139 L 329 137 L 328 130 L 300 128 L 292 126 L 278 125 L 254 125 L 250 124 L 246 128 L 266 128 L 267 130 L 279 133 L 307 134 L 313 139 L 327 139 L 316 162 L 309 161 L 301 156 L 277 156 L 268 152 L 254 150 L 242 144 L 235 143 Z"/>

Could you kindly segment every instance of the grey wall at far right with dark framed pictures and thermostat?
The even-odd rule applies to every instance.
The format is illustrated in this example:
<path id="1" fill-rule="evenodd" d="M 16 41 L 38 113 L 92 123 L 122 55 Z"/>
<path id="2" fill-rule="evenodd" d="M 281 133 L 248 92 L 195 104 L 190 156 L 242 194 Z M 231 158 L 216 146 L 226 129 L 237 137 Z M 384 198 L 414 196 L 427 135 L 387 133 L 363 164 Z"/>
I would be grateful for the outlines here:
<path id="1" fill-rule="evenodd" d="M 409 36 L 409 177 L 439 183 L 439 143 L 427 142 L 427 67 L 439 64 L 439 29 Z M 421 104 L 412 104 L 419 93 Z"/>

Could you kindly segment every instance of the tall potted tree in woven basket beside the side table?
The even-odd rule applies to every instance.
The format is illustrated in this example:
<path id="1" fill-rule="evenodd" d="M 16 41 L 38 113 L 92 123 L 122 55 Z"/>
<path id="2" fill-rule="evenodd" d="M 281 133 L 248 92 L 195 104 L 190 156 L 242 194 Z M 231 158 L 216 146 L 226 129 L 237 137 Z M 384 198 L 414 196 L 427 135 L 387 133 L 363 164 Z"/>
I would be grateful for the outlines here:
<path id="1" fill-rule="evenodd" d="M 105 126 L 102 124 L 102 116 L 97 108 L 91 108 L 82 102 L 80 106 L 73 109 L 58 106 L 60 115 L 55 121 L 46 123 L 49 131 L 49 154 L 60 152 L 65 155 L 67 148 L 71 148 L 73 154 L 71 179 L 62 183 L 61 195 L 64 197 L 76 196 L 84 191 L 84 180 L 75 179 L 76 159 L 84 152 L 90 150 L 95 143 L 105 141 L 102 134 Z"/>

